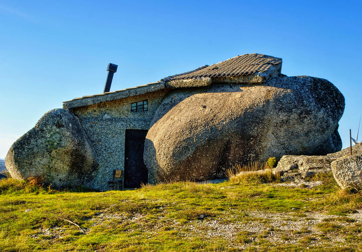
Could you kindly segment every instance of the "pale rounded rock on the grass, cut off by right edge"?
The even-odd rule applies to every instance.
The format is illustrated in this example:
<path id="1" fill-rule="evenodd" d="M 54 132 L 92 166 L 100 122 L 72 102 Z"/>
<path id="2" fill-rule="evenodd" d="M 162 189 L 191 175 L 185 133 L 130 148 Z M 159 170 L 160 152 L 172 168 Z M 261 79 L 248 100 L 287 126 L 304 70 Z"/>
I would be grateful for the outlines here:
<path id="1" fill-rule="evenodd" d="M 337 159 L 331 167 L 334 179 L 341 188 L 362 190 L 362 154 Z"/>

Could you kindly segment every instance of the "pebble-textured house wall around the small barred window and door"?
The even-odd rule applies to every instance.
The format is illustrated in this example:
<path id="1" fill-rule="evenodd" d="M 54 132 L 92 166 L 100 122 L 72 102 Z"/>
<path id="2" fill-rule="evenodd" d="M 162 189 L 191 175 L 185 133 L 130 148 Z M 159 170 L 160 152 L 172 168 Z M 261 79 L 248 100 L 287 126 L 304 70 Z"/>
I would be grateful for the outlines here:
<path id="1" fill-rule="evenodd" d="M 168 89 L 163 89 L 71 109 L 79 118 L 98 156 L 99 169 L 89 184 L 92 188 L 106 190 L 113 169 L 124 171 L 126 129 L 150 129 L 156 109 L 167 92 Z M 148 101 L 148 111 L 131 112 L 131 104 L 142 100 Z M 150 174 L 148 182 L 153 182 Z"/>

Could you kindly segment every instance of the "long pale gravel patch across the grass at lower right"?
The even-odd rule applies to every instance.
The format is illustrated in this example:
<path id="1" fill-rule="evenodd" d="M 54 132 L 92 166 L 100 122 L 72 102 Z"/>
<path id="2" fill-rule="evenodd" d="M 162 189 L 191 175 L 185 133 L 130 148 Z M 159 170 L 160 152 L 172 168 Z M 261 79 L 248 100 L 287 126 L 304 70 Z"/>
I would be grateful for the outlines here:
<path id="1" fill-rule="evenodd" d="M 115 213 L 100 213 L 91 220 L 94 221 L 93 226 L 102 225 L 106 220 L 123 220 L 129 223 L 139 223 L 145 227 L 144 231 L 153 235 L 158 234 L 160 228 L 167 226 L 171 230 L 178 230 L 178 235 L 181 239 L 189 239 L 192 237 L 212 239 L 219 237 L 227 239 L 231 246 L 237 248 L 247 248 L 251 245 L 251 243 L 244 245 L 237 243 L 237 234 L 242 231 L 251 233 L 251 241 L 265 239 L 274 244 L 296 244 L 300 239 L 313 235 L 316 237 L 316 240 L 312 240 L 308 244 L 324 244 L 326 241 L 318 237 L 318 235 L 322 235 L 323 237 L 323 232 L 321 232 L 316 225 L 323 222 L 326 218 L 338 218 L 339 216 L 312 212 L 306 212 L 304 214 L 305 216 L 298 217 L 293 212 L 271 214 L 270 212 L 264 211 L 250 211 L 243 212 L 243 216 L 247 216 L 247 218 L 245 218 L 246 221 L 243 221 L 240 215 L 237 214 L 225 215 L 226 218 L 210 218 L 206 216 L 205 219 L 193 220 L 186 223 L 168 219 L 166 222 L 156 223 L 155 226 L 152 226 L 152 229 L 147 228 L 146 216 L 142 214 L 134 214 L 132 217 L 126 217 L 126 215 L 118 215 Z M 346 217 L 354 219 L 354 223 L 362 223 L 362 210 L 354 214 L 349 214 Z M 232 221 L 232 219 L 241 220 Z M 338 224 L 347 226 L 350 223 L 342 222 Z M 298 234 L 298 231 L 301 231 L 301 233 Z M 262 236 L 260 236 L 260 234 Z M 344 243 L 345 239 L 338 232 L 328 233 L 328 243 L 333 244 L 336 242 Z"/>

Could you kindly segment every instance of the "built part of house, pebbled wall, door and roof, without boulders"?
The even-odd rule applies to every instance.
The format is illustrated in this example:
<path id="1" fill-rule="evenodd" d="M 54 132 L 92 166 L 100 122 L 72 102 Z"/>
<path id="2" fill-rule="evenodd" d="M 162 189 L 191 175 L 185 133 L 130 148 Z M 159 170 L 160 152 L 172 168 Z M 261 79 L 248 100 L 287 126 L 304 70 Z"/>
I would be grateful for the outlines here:
<path id="1" fill-rule="evenodd" d="M 104 184 L 113 169 L 122 169 L 123 188 L 153 182 L 143 162 L 144 140 L 161 100 L 171 89 L 223 83 L 262 83 L 281 72 L 282 59 L 244 54 L 168 76 L 160 81 L 113 92 L 86 95 L 63 102 L 75 114 L 98 154 L 99 177 Z"/>

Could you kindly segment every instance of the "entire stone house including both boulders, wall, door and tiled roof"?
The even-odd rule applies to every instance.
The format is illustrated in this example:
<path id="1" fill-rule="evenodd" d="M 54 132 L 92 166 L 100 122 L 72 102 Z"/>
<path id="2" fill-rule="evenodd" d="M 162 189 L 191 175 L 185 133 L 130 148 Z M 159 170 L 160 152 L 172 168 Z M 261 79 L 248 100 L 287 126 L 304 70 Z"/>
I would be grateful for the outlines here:
<path id="1" fill-rule="evenodd" d="M 136 188 L 222 178 L 233 163 L 340 150 L 343 95 L 325 79 L 288 77 L 281 68 L 281 58 L 244 54 L 65 101 L 13 144 L 7 168 L 18 179 L 41 174 L 58 187 L 106 190 L 114 169 L 123 171 L 123 188 Z M 62 171 L 59 182 L 53 175 Z"/>

